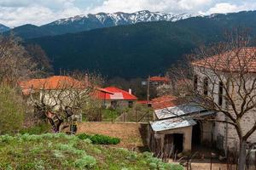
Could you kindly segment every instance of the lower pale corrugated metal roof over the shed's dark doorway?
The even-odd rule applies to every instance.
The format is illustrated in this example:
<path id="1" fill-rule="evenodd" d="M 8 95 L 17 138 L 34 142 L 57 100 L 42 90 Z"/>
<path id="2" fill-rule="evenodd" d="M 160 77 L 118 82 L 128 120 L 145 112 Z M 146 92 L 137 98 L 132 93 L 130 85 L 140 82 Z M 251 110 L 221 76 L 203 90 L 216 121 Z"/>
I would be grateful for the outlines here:
<path id="1" fill-rule="evenodd" d="M 194 126 L 196 122 L 193 119 L 182 119 L 180 117 L 166 119 L 162 121 L 150 122 L 150 125 L 154 132 L 160 132 L 164 130 L 171 130 L 181 127 L 190 127 Z"/>

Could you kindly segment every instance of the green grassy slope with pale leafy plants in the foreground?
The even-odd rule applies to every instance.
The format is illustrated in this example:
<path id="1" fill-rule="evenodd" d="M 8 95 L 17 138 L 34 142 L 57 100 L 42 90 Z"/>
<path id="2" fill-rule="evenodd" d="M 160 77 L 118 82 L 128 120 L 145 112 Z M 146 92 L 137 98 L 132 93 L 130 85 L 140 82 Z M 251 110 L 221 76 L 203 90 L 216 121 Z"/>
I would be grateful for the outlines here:
<path id="1" fill-rule="evenodd" d="M 167 164 L 151 156 L 125 149 L 91 144 L 64 133 L 0 136 L 0 169 L 168 169 L 183 167 Z"/>

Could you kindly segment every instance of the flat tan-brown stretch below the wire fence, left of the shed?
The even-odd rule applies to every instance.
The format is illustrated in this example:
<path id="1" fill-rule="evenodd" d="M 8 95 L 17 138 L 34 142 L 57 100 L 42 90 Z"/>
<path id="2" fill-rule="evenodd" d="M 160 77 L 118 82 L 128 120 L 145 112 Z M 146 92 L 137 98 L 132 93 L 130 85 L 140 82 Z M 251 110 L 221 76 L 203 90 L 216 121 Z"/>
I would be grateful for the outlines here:
<path id="1" fill-rule="evenodd" d="M 121 139 L 120 147 L 143 150 L 148 145 L 148 123 L 81 122 L 78 133 L 104 134 Z"/>

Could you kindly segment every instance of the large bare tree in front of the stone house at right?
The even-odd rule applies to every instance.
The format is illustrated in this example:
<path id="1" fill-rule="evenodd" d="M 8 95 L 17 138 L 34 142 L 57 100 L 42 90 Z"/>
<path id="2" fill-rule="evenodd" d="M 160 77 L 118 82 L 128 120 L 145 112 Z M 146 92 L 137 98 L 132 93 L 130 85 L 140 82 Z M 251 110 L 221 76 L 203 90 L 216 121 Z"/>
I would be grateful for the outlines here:
<path id="1" fill-rule="evenodd" d="M 247 142 L 256 131 L 256 48 L 248 47 L 246 31 L 227 35 L 225 42 L 199 48 L 189 56 L 188 67 L 174 72 L 180 79 L 189 78 L 183 84 L 189 102 L 218 113 L 207 121 L 235 127 L 240 142 L 239 169 L 244 170 Z"/>

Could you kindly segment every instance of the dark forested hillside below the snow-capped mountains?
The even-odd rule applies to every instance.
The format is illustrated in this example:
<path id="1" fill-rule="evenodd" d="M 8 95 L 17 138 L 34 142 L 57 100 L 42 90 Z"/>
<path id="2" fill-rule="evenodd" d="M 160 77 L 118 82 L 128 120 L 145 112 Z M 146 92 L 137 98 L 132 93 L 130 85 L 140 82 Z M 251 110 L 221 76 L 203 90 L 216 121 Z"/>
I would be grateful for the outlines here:
<path id="1" fill-rule="evenodd" d="M 184 54 L 220 41 L 224 31 L 239 26 L 250 28 L 254 37 L 256 11 L 114 26 L 27 42 L 44 48 L 56 73 L 61 68 L 101 71 L 108 77 L 147 77 L 165 72 Z"/>

